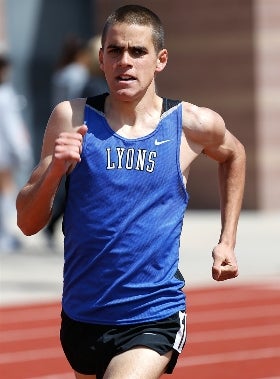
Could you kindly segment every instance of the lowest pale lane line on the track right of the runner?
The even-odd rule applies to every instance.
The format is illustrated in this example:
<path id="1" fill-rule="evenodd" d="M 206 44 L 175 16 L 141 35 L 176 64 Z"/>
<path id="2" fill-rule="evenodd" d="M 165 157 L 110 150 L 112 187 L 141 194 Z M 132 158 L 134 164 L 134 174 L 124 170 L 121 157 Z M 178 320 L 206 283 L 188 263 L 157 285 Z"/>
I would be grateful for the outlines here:
<path id="1" fill-rule="evenodd" d="M 225 362 L 251 361 L 280 357 L 280 348 L 271 347 L 257 350 L 240 350 L 219 354 L 207 354 L 179 358 L 178 367 L 211 365 Z"/>

